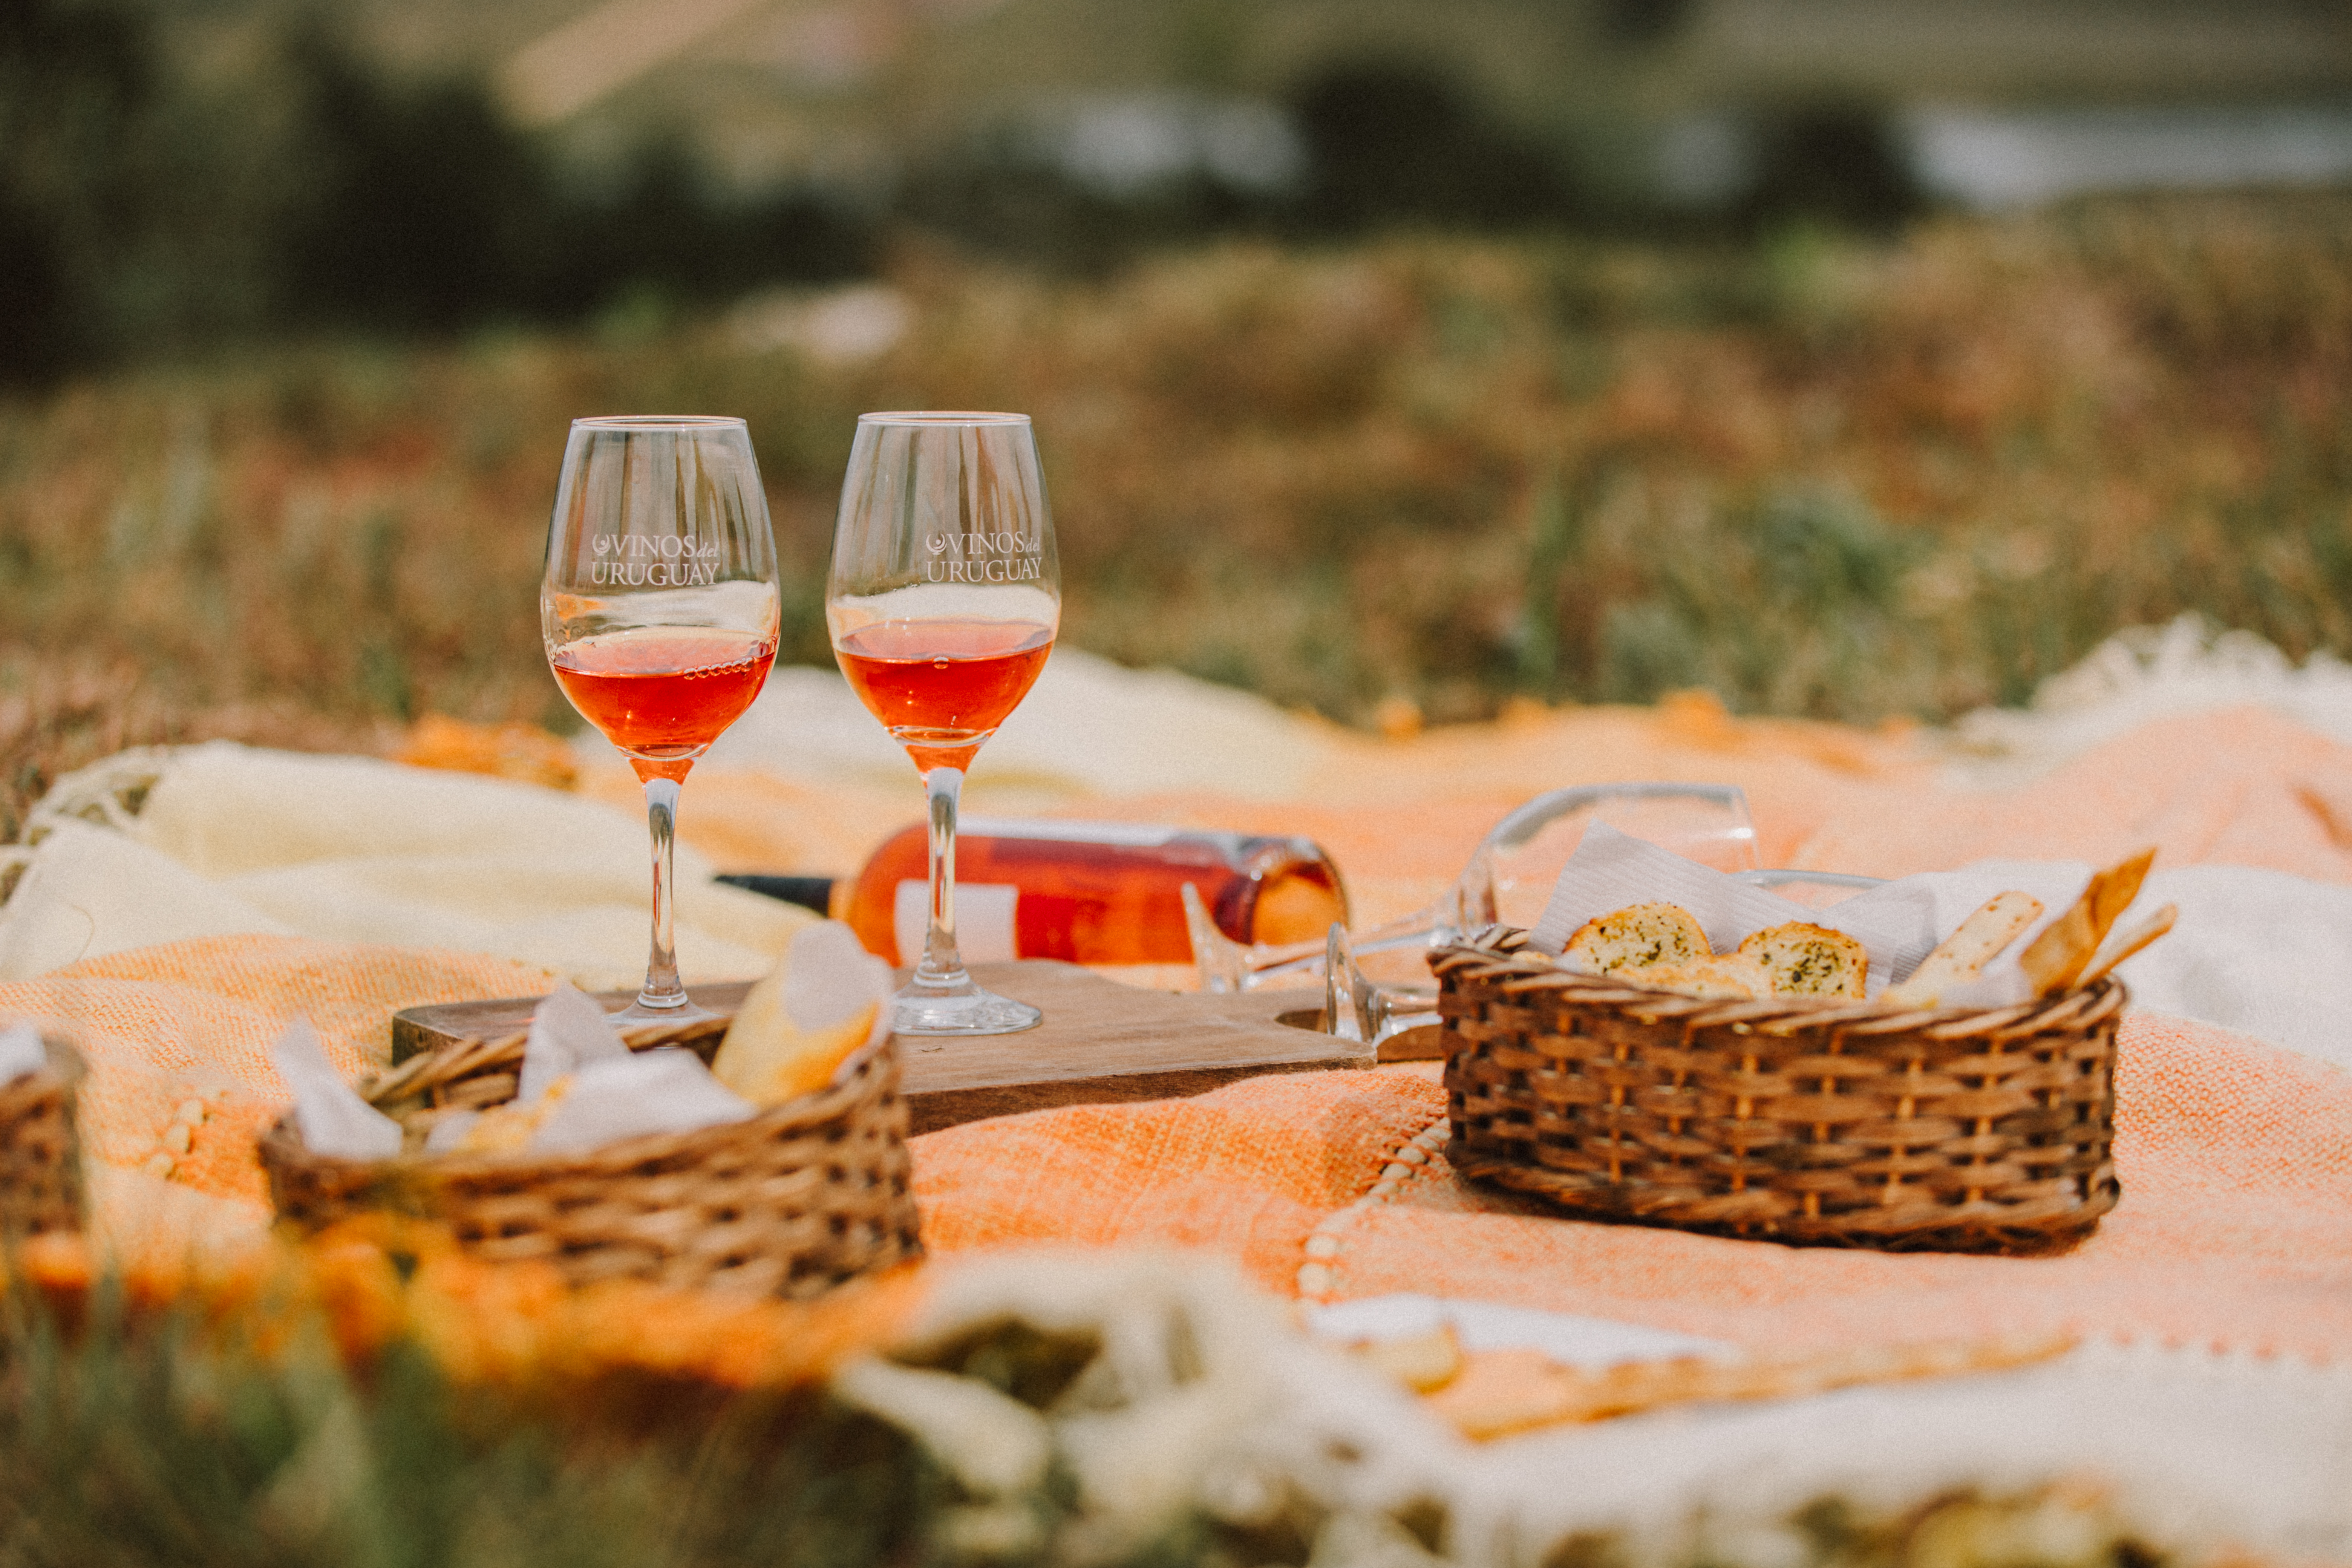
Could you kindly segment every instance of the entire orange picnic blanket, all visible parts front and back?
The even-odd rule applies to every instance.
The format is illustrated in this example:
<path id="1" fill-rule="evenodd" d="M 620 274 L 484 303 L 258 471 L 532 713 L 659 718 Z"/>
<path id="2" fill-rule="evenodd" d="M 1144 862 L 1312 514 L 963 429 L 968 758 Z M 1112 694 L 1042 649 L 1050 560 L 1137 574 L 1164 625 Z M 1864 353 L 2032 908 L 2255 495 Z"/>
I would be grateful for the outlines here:
<path id="1" fill-rule="evenodd" d="M 1534 790 L 1708 778 L 1750 790 L 1769 863 L 1900 875 L 2157 842 L 2159 865 L 2352 882 L 2352 750 L 2260 710 L 2147 724 L 2006 792 L 1940 785 L 1900 736 L 1703 708 L 1439 731 L 1357 762 L 1291 809 L 1188 797 L 1091 813 L 1181 806 L 1192 820 L 1315 832 L 1350 872 L 1404 898 L 1449 879 Z M 736 799 L 755 795 L 739 780 Z M 757 830 L 753 813 L 715 818 L 739 839 Z M 252 1138 L 282 1105 L 266 1048 L 287 1018 L 310 1016 L 329 1056 L 358 1072 L 383 1060 L 395 1009 L 548 980 L 480 954 L 209 938 L 0 985 L 0 1013 L 52 1020 L 89 1058 L 82 1128 L 101 1225 L 125 1246 L 186 1248 L 266 1222 Z M 917 1194 L 941 1255 L 1188 1246 L 1315 1298 L 1479 1295 L 1773 1345 L 2074 1326 L 2352 1352 L 2352 1074 L 2152 1016 L 2126 1025 L 2122 1063 L 2124 1201 L 2089 1244 L 2046 1260 L 1792 1251 L 1555 1220 L 1428 1157 L 1416 1138 L 1444 1100 L 1411 1070 L 950 1128 L 915 1140 Z"/>

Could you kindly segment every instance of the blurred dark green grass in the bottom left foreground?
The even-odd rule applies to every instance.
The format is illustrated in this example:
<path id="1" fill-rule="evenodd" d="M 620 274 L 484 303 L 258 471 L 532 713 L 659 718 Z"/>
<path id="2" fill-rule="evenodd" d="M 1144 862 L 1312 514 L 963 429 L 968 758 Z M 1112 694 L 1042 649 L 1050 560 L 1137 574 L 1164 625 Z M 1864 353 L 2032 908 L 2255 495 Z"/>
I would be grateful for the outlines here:
<path id="1" fill-rule="evenodd" d="M 880 1422 L 816 1396 L 635 1427 L 454 1385 L 395 1345 L 346 1371 L 325 1333 L 261 1354 L 165 1319 L 0 1335 L 0 1561 L 771 1563 L 941 1561 L 943 1481 Z"/>

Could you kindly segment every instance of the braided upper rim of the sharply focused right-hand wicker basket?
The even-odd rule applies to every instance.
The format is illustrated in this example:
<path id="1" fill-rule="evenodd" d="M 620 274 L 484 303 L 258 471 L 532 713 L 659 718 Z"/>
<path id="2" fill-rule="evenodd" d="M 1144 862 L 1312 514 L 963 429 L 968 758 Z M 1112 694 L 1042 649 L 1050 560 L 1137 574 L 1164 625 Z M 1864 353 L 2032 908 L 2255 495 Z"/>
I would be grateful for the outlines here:
<path id="1" fill-rule="evenodd" d="M 1470 983 L 1498 983 L 1505 992 L 1562 990 L 1578 992 L 1576 999 L 1592 1006 L 1616 1006 L 1644 1023 L 1682 1023 L 1689 1027 L 1748 1025 L 1759 1034 L 1795 1034 L 1823 1025 L 1835 1025 L 1844 1034 L 1893 1034 L 1926 1030 L 1936 1037 L 2039 1032 L 2060 1023 L 2051 1013 L 2082 1011 L 2082 1023 L 2105 1018 L 2114 1006 L 2124 1006 L 2131 992 L 2107 973 L 2091 985 L 2072 985 L 2046 997 L 2006 1001 L 2002 1006 L 1884 1006 L 1882 1001 L 1853 1001 L 1839 997 L 1693 997 L 1689 992 L 1656 985 L 1637 985 L 1613 976 L 1590 976 L 1559 969 L 1548 954 L 1526 950 L 1498 950 L 1503 943 L 1524 936 L 1517 929 L 1498 926 L 1489 938 L 1454 943 L 1430 954 L 1430 971 L 1439 978 L 1458 976 Z M 1477 966 L 1477 969 L 1472 969 Z"/>

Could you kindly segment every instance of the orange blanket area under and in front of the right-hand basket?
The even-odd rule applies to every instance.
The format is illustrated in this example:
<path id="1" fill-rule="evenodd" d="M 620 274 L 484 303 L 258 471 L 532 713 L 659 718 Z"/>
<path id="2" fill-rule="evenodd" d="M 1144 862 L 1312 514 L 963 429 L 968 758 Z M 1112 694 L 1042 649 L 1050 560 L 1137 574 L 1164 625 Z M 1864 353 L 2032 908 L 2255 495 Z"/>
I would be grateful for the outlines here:
<path id="1" fill-rule="evenodd" d="M 948 1128 L 915 1140 L 924 1241 L 1209 1248 L 1308 1300 L 1479 1298 L 1759 1347 L 2072 1331 L 2352 1356 L 2352 1074 L 2225 1030 L 2124 1025 L 2124 1201 L 2056 1258 L 1559 1220 L 1414 1145 L 1444 1114 L 1430 1077 L 1381 1070 Z"/>

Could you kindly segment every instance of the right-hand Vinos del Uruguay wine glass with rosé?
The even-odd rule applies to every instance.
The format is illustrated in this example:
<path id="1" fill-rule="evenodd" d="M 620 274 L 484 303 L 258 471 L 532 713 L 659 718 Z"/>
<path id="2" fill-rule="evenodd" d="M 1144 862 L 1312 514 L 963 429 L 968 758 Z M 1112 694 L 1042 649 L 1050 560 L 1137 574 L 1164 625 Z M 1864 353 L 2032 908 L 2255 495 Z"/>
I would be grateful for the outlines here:
<path id="1" fill-rule="evenodd" d="M 955 806 L 1061 625 L 1054 520 L 1028 414 L 863 414 L 833 529 L 826 623 L 842 675 L 922 773 L 931 903 L 898 1034 L 1011 1034 L 1025 1001 L 955 947 Z"/>

